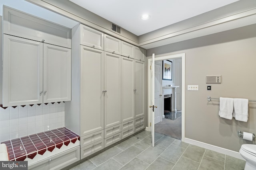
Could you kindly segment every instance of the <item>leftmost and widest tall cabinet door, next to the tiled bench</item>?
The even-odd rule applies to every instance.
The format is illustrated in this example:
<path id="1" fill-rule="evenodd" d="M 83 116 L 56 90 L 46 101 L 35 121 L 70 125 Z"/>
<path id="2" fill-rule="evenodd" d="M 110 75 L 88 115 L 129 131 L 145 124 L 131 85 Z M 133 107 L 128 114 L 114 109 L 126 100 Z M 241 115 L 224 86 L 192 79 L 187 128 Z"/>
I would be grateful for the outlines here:
<path id="1" fill-rule="evenodd" d="M 104 128 L 104 52 L 81 45 L 80 136 Z"/>

